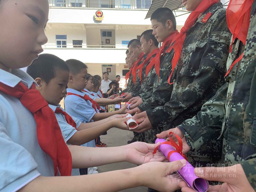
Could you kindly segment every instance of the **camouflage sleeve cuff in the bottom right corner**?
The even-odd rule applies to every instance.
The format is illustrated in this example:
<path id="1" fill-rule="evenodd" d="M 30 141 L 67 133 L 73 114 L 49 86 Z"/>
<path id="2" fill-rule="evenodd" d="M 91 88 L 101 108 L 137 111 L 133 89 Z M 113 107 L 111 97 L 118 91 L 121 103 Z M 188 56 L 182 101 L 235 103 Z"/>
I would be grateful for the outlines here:
<path id="1" fill-rule="evenodd" d="M 244 173 L 251 184 L 252 188 L 256 191 L 256 154 L 252 155 L 249 160 L 242 161 L 240 164 L 244 169 Z"/>

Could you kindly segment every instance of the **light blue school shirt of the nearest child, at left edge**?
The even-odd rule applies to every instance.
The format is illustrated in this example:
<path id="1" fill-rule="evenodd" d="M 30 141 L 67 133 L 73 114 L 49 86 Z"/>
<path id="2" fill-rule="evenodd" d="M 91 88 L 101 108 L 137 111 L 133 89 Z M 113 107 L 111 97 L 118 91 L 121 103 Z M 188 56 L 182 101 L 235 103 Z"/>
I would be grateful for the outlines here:
<path id="1" fill-rule="evenodd" d="M 28 88 L 35 81 L 20 69 L 0 69 L 0 82 Z M 54 176 L 52 159 L 39 146 L 36 121 L 19 99 L 0 91 L 0 192 L 17 191 L 38 176 Z"/>

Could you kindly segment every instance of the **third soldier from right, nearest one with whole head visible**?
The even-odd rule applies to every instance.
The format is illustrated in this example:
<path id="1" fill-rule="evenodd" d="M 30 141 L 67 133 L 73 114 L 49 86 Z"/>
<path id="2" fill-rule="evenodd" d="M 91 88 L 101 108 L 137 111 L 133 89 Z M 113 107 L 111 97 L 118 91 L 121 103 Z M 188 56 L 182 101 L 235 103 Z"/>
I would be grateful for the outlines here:
<path id="1" fill-rule="evenodd" d="M 172 70 L 171 60 L 173 50 L 166 52 L 170 47 L 173 38 L 179 34 L 176 30 L 176 20 L 172 11 L 168 8 L 159 8 L 151 16 L 153 35 L 158 42 L 163 42 L 160 52 L 148 65 L 147 81 L 153 84 L 153 93 L 148 94 L 148 98 L 141 98 L 143 103 L 139 106 L 141 111 L 150 109 L 158 105 L 164 105 L 171 98 L 172 85 L 167 80 Z M 152 65 L 153 64 L 153 65 Z M 153 136 L 161 132 L 161 129 L 150 129 L 145 132 L 145 141 L 153 143 Z"/>

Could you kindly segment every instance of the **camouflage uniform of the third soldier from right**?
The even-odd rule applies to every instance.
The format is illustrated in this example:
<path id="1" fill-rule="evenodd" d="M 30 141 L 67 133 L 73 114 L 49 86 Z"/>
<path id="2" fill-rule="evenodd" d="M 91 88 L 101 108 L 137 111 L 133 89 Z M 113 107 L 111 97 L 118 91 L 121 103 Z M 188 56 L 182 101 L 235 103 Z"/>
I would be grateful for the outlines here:
<path id="1" fill-rule="evenodd" d="M 170 45 L 166 47 L 165 50 L 169 48 Z M 156 69 L 152 68 L 148 75 L 147 81 L 149 84 L 153 84 L 152 93 L 146 95 L 142 98 L 143 103 L 138 107 L 141 111 L 145 111 L 157 106 L 164 105 L 171 98 L 172 85 L 170 85 L 167 80 L 172 71 L 172 58 L 173 50 L 170 53 L 164 52 L 160 57 L 160 70 L 159 70 L 159 81 L 156 75 Z M 145 142 L 154 143 L 156 140 L 156 134 L 161 132 L 160 128 L 150 129 L 145 134 Z"/>

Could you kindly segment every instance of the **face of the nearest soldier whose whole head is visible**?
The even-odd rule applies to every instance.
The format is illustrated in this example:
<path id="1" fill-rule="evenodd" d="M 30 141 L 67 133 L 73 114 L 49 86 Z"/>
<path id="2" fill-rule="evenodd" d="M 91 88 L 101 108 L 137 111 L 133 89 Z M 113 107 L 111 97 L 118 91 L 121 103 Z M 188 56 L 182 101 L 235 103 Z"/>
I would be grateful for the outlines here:
<path id="1" fill-rule="evenodd" d="M 157 21 L 156 19 L 152 19 L 151 20 L 151 26 L 153 29 L 153 35 L 156 37 L 156 40 L 160 43 L 160 42 L 164 42 L 164 40 L 170 35 L 170 31 L 167 25 L 167 21 L 165 26 L 163 25 L 163 23 Z"/>

